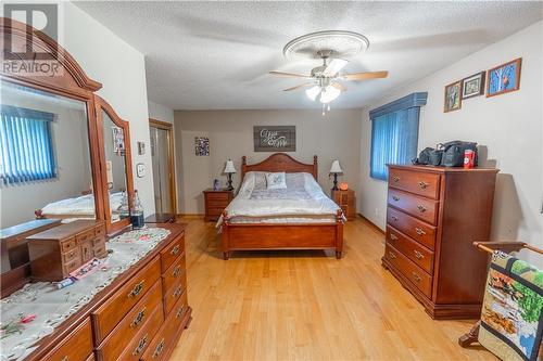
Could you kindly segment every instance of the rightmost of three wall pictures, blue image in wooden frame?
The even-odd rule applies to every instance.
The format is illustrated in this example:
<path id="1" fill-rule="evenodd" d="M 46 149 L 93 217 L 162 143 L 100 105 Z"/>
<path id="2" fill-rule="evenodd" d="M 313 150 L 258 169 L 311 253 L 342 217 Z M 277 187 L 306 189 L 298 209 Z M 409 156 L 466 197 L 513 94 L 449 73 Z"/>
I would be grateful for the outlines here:
<path id="1" fill-rule="evenodd" d="M 487 72 L 487 98 L 520 89 L 522 57 L 498 65 Z"/>

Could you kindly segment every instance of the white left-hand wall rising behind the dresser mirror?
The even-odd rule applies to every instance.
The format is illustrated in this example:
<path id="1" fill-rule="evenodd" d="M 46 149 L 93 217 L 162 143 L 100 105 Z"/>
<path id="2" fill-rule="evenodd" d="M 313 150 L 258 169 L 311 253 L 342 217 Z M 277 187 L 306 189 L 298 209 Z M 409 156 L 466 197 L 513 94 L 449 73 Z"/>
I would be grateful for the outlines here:
<path id="1" fill-rule="evenodd" d="M 149 115 L 143 54 L 73 3 L 64 3 L 64 41 L 87 75 L 102 83 L 98 94 L 121 118 L 130 123 L 134 186 L 146 214 L 154 212 L 151 155 L 138 155 L 138 141 L 149 147 Z M 136 165 L 143 163 L 146 177 L 136 177 Z"/>

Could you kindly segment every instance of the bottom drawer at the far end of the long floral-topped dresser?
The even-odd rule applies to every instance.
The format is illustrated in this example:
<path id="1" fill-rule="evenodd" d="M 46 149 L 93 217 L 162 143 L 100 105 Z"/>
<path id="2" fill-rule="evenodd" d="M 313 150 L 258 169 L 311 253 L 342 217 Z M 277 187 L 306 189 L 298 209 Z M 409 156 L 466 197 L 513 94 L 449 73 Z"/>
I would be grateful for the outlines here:
<path id="1" fill-rule="evenodd" d="M 156 336 L 149 344 L 149 348 L 141 357 L 142 361 L 167 360 L 184 330 L 182 321 L 187 310 L 187 293 L 184 293 L 174 306 L 174 312 L 169 313 Z"/>

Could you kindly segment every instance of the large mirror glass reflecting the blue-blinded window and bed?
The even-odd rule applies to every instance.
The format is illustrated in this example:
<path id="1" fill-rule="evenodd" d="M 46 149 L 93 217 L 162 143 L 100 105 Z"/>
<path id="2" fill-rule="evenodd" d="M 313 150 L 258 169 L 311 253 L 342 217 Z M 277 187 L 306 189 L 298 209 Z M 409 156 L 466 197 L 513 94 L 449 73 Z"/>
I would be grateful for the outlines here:
<path id="1" fill-rule="evenodd" d="M 87 104 L 1 81 L 1 228 L 97 218 Z"/>

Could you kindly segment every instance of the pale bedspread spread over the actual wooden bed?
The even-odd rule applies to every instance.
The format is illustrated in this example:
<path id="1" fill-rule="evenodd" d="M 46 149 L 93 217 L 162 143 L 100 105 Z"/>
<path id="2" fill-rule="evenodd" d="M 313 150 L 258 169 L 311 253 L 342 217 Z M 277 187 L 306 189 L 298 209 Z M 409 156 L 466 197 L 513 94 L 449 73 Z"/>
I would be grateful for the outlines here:
<path id="1" fill-rule="evenodd" d="M 327 197 L 323 189 L 310 173 L 287 175 L 287 189 L 265 190 L 261 184 L 261 172 L 248 172 L 241 189 L 233 201 L 226 207 L 228 219 L 236 222 L 236 217 L 248 222 L 249 218 L 277 218 L 296 221 L 300 216 L 323 216 L 333 219 L 338 205 Z M 256 220 L 262 222 L 262 219 Z M 298 219 L 298 221 L 300 221 Z M 223 217 L 217 222 L 220 225 Z"/>

